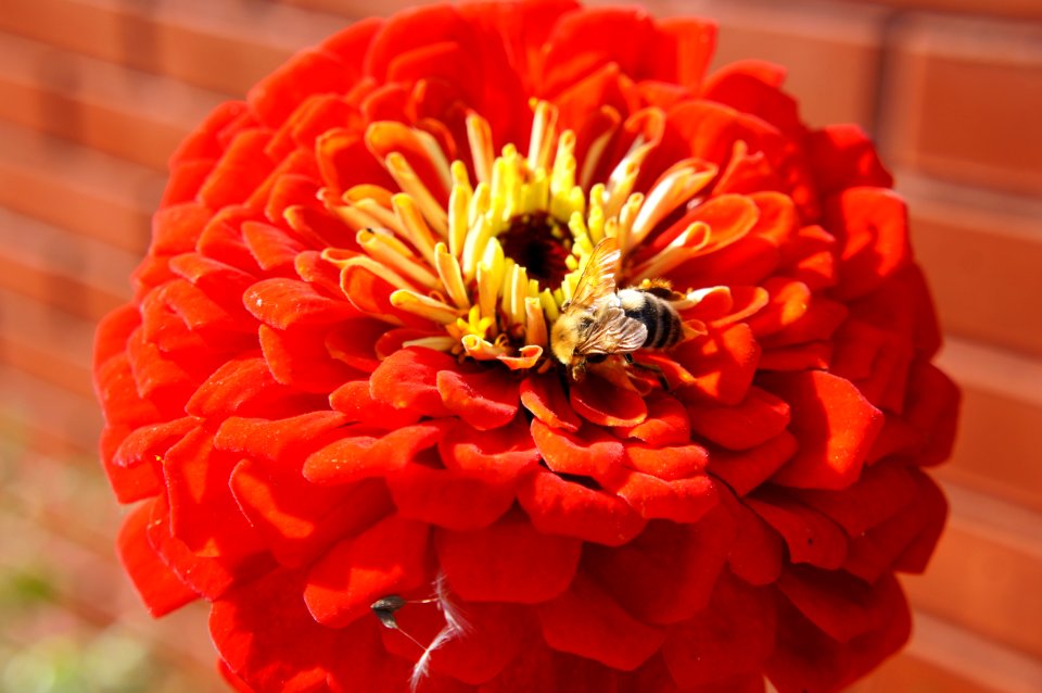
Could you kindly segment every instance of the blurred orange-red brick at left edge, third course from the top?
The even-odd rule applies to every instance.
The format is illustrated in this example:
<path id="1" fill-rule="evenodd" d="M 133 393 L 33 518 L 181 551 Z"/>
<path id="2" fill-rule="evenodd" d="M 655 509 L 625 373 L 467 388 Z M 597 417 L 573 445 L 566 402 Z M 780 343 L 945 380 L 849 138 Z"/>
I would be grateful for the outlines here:
<path id="1" fill-rule="evenodd" d="M 165 176 L 0 123 L 0 205 L 141 254 Z"/>

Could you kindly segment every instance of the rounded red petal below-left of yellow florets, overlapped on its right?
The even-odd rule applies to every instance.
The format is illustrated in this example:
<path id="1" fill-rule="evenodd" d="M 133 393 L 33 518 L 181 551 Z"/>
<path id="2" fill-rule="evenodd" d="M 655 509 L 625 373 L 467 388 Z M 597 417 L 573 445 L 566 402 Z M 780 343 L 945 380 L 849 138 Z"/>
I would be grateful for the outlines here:
<path id="1" fill-rule="evenodd" d="M 457 368 L 456 360 L 446 353 L 410 346 L 383 360 L 369 379 L 369 392 L 373 400 L 398 410 L 448 416 L 450 412 L 437 389 L 437 374 Z"/>

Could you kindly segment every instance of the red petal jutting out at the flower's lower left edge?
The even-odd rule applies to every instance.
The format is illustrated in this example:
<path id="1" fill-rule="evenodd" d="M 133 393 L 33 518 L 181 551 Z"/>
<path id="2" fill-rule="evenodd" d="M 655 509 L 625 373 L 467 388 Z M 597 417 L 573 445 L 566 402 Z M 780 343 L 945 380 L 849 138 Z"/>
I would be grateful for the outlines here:
<path id="1" fill-rule="evenodd" d="M 130 576 L 149 614 L 158 618 L 194 602 L 199 594 L 185 584 L 152 547 L 147 532 L 151 515 L 151 502 L 134 508 L 123 520 L 116 545 L 119 562 Z"/>

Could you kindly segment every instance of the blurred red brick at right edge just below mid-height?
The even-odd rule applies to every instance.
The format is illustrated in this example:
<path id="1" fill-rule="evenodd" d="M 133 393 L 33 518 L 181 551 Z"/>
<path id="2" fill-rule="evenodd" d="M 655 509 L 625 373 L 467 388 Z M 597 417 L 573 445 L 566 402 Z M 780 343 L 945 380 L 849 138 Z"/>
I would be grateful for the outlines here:
<path id="1" fill-rule="evenodd" d="M 963 412 L 937 474 L 1042 512 L 1042 363 L 950 340 L 939 365 L 962 387 Z"/>

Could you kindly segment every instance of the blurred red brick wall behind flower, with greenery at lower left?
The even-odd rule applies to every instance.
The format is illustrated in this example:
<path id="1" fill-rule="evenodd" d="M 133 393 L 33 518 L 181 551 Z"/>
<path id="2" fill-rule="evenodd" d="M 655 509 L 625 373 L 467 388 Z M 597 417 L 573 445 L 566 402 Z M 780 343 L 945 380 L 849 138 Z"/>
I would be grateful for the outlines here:
<path id="1" fill-rule="evenodd" d="M 408 4 L 0 0 L 0 692 L 224 690 L 204 608 L 153 621 L 113 553 L 93 326 L 129 295 L 166 158 L 301 47 Z M 965 406 L 910 646 L 855 691 L 1042 691 L 1042 2 L 646 0 L 789 67 L 910 202 Z"/>

